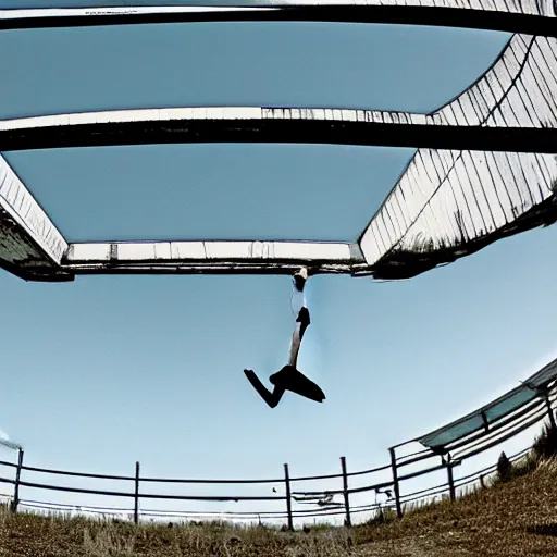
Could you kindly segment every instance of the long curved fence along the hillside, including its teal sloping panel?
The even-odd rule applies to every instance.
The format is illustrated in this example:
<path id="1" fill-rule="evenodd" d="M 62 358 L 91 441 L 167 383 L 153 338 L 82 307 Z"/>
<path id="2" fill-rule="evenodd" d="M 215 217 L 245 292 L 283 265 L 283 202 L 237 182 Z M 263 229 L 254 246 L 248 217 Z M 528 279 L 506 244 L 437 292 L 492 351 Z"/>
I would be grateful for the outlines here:
<path id="1" fill-rule="evenodd" d="M 448 496 L 454 500 L 459 491 L 478 482 L 483 483 L 483 478 L 496 469 L 494 462 L 493 466 L 458 476 L 462 462 L 499 446 L 546 418 L 555 428 L 556 379 L 557 359 L 520 386 L 482 408 L 438 430 L 388 448 L 388 462 L 369 470 L 350 472 L 346 459 L 342 457 L 338 473 L 311 476 L 290 476 L 286 463 L 283 466 L 283 474 L 257 480 L 150 478 L 140 473 L 139 462 L 136 462 L 135 473 L 131 475 L 96 474 L 26 466 L 23 448 L 2 441 L 4 447 L 16 451 L 17 459 L 15 462 L 0 461 L 0 483 L 7 490 L 9 486 L 12 488 L 12 493 L 4 491 L 3 495 L 13 512 L 22 508 L 74 511 L 120 516 L 135 523 L 141 519 L 211 517 L 242 521 L 278 520 L 284 521 L 286 528 L 293 529 L 295 520 L 341 517 L 345 524 L 351 525 L 355 516 L 372 513 L 380 507 L 393 508 L 401 517 L 406 505 L 419 500 L 440 496 Z M 400 455 L 403 447 L 412 444 L 420 444 L 421 449 Z M 510 460 L 520 458 L 528 450 L 529 448 L 520 450 Z M 405 490 L 411 480 L 434 474 L 438 476 L 438 473 L 444 474 L 441 483 L 413 492 Z M 39 481 L 32 481 L 35 476 Z M 50 480 L 52 476 L 54 480 Z M 69 485 L 72 481 L 74 485 Z M 94 481 L 103 481 L 108 487 L 89 487 Z M 326 487 L 323 487 L 324 482 Z M 330 488 L 331 482 L 337 487 Z M 310 490 L 298 487 L 301 484 L 309 485 Z M 166 487 L 166 493 L 163 493 L 163 486 Z M 186 493 L 177 494 L 178 486 L 186 488 Z M 225 494 L 224 486 L 226 490 L 233 488 L 233 493 Z M 312 486 L 315 487 L 311 488 Z M 153 488 L 157 491 L 152 492 Z M 253 493 L 246 494 L 246 491 Z M 40 495 L 27 498 L 24 495 L 28 493 Z M 106 498 L 109 504 L 101 506 L 97 503 L 88 505 L 85 502 L 83 505 L 63 503 L 60 500 L 61 493 L 83 495 L 84 498 L 95 496 L 95 500 Z M 358 496 L 361 499 L 362 495 L 363 504 L 355 505 L 354 499 Z M 128 504 L 110 505 L 114 498 Z M 156 502 L 166 507 L 174 503 L 180 508 L 156 509 Z M 232 511 L 191 510 L 194 504 L 201 502 L 221 506 L 226 503 L 234 506 L 248 504 L 249 508 Z"/>

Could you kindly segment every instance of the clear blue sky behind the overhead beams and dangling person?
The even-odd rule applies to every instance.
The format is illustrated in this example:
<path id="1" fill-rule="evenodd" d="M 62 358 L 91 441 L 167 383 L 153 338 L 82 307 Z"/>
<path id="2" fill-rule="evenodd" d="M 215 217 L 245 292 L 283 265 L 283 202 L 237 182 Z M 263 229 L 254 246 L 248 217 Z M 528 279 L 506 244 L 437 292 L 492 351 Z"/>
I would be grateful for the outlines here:
<path id="1" fill-rule="evenodd" d="M 45 5 L 0 5 L 15 3 Z M 244 104 L 430 111 L 507 40 L 293 23 L 2 32 L 0 116 Z M 206 145 L 7 159 L 69 240 L 352 240 L 412 152 Z M 556 239 L 556 227 L 527 233 L 408 282 L 312 278 L 300 369 L 327 398 L 286 395 L 274 410 L 243 369 L 267 380 L 286 362 L 288 277 L 34 284 L 1 272 L 0 428 L 29 466 L 102 473 L 132 474 L 136 460 L 151 476 L 194 478 L 276 478 L 283 462 L 293 475 L 334 473 L 341 455 L 351 470 L 386 463 L 388 446 L 490 401 L 553 354 Z"/>

